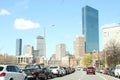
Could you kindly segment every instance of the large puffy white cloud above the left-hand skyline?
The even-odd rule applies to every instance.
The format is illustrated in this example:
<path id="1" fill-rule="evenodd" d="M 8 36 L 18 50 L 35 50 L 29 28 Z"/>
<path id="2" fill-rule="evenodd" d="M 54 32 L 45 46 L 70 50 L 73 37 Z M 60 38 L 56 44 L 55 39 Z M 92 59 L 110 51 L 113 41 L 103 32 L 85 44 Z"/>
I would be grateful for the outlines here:
<path id="1" fill-rule="evenodd" d="M 16 19 L 14 22 L 14 27 L 19 30 L 28 30 L 28 29 L 34 29 L 39 28 L 39 23 L 32 22 L 31 20 L 25 20 L 25 19 Z"/>

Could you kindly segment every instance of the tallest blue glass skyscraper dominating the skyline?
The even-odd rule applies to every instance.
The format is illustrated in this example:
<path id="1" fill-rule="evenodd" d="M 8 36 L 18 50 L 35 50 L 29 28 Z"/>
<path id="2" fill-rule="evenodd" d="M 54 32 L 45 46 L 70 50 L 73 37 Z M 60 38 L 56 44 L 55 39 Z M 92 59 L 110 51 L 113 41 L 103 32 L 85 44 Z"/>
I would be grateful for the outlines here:
<path id="1" fill-rule="evenodd" d="M 85 6 L 82 8 L 82 33 L 85 36 L 85 51 L 99 51 L 98 10 Z"/>

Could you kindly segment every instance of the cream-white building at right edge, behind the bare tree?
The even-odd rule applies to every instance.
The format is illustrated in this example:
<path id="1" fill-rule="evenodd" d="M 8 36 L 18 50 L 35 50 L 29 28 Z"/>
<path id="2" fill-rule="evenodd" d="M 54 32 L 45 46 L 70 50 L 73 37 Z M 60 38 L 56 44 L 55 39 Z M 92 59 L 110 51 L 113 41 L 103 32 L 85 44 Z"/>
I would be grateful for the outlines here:
<path id="1" fill-rule="evenodd" d="M 120 23 L 104 26 L 102 32 L 103 49 L 106 47 L 106 44 L 109 44 L 110 40 L 115 40 L 120 43 Z"/>

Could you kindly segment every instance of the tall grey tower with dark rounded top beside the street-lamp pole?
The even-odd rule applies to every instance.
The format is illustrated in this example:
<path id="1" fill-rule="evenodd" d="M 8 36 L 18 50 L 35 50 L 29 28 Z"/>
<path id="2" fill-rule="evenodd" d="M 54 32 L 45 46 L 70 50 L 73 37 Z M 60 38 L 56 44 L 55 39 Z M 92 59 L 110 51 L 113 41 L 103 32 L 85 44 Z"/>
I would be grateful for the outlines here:
<path id="1" fill-rule="evenodd" d="M 38 50 L 38 55 L 40 57 L 46 57 L 46 43 L 43 36 L 37 36 L 36 38 L 36 50 Z"/>

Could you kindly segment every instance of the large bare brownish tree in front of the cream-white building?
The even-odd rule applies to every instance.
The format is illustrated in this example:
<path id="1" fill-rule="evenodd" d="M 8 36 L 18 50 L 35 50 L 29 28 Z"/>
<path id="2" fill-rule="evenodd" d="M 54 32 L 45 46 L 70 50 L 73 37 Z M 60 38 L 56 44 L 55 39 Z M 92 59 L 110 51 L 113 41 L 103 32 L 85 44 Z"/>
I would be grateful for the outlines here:
<path id="1" fill-rule="evenodd" d="M 115 39 L 110 40 L 105 48 L 106 60 L 109 67 L 115 67 L 120 62 L 120 43 Z"/>

